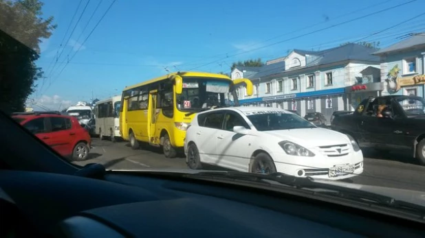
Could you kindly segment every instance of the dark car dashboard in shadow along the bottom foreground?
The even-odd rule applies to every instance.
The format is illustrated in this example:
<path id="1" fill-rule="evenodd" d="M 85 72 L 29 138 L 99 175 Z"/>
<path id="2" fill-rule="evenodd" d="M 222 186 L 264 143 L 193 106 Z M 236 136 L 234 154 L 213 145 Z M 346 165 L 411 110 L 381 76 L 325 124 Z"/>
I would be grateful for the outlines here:
<path id="1" fill-rule="evenodd" d="M 340 204 L 178 176 L 146 176 L 143 172 L 107 172 L 94 179 L 2 170 L 0 188 L 4 191 L 1 198 L 16 207 L 3 211 L 19 211 L 31 224 L 31 228 L 21 230 L 31 237 L 425 234 L 422 224 Z M 2 220 L 14 215 L 1 213 Z"/>

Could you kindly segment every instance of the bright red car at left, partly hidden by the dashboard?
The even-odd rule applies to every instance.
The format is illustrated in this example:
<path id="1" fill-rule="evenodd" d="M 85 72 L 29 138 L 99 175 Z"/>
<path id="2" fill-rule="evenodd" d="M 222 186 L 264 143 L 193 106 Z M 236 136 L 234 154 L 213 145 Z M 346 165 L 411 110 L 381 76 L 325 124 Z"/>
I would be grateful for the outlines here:
<path id="1" fill-rule="evenodd" d="M 75 117 L 61 112 L 15 112 L 12 118 L 62 156 L 87 159 L 91 138 Z"/>

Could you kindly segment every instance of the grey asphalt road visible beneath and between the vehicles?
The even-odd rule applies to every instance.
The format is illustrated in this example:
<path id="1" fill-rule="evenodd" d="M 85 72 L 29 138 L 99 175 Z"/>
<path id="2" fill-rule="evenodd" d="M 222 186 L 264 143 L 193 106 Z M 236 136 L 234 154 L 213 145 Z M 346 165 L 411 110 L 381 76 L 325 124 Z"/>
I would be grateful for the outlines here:
<path id="1" fill-rule="evenodd" d="M 112 143 L 99 139 L 93 139 L 92 145 L 89 159 L 77 162 L 77 165 L 101 163 L 107 169 L 188 168 L 184 154 L 177 158 L 165 158 L 160 148 L 147 146 L 132 150 L 126 141 Z M 417 165 L 413 158 L 400 153 L 382 156 L 373 150 L 364 150 L 363 153 L 363 174 L 351 178 L 348 182 L 425 191 L 425 166 Z"/>

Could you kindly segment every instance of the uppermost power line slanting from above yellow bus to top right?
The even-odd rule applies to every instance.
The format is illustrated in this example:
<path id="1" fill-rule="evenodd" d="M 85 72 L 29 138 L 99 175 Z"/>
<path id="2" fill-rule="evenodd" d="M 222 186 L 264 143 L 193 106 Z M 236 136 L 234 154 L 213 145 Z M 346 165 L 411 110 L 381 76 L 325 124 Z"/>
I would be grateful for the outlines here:
<path id="1" fill-rule="evenodd" d="M 399 7 L 401 7 L 402 5 L 407 5 L 407 4 L 409 4 L 409 3 L 413 3 L 413 2 L 415 2 L 415 1 L 417 1 L 417 0 L 411 0 L 411 1 L 408 1 L 408 2 L 406 2 L 406 3 L 400 3 L 400 4 L 398 4 L 398 5 L 395 5 L 395 6 L 392 6 L 392 7 L 389 7 L 389 8 L 384 8 L 383 10 L 379 10 L 379 11 L 377 11 L 377 12 L 372 12 L 372 13 L 369 13 L 369 14 L 365 14 L 365 15 L 363 15 L 363 16 L 358 16 L 358 17 L 356 17 L 356 18 L 354 18 L 354 19 L 350 19 L 350 20 L 347 20 L 347 21 L 343 21 L 342 23 L 338 23 L 338 24 L 336 24 L 336 25 L 331 25 L 331 26 L 328 26 L 328 27 L 323 27 L 323 28 L 320 28 L 320 29 L 316 29 L 316 30 L 314 30 L 314 31 L 312 31 L 312 32 L 307 32 L 307 33 L 305 33 L 305 34 L 301 34 L 301 35 L 299 35 L 299 36 L 294 36 L 294 37 L 292 37 L 292 38 L 287 38 L 287 39 L 285 39 L 285 40 L 280 40 L 280 41 L 278 41 L 278 42 L 276 42 L 276 43 L 271 43 L 271 44 L 269 44 L 269 45 L 265 45 L 265 46 L 262 46 L 262 47 L 257 47 L 257 48 L 254 48 L 254 49 L 250 49 L 250 50 L 248 50 L 248 51 L 243 51 L 243 52 L 240 52 L 240 53 L 235 53 L 235 54 L 233 54 L 232 56 L 227 56 L 226 58 L 230 58 L 230 57 L 234 57 L 234 56 L 239 56 L 239 55 L 241 55 L 241 54 L 243 54 L 243 53 L 249 53 L 249 52 L 252 52 L 252 51 L 259 50 L 259 49 L 264 49 L 264 48 L 267 48 L 267 47 L 271 47 L 271 46 L 273 46 L 273 45 L 278 45 L 278 44 L 281 44 L 281 43 L 284 43 L 284 42 L 287 42 L 287 41 L 290 41 L 290 40 L 295 40 L 295 39 L 297 39 L 297 38 L 301 38 L 301 37 L 303 37 L 303 36 L 308 36 L 308 35 L 311 35 L 311 34 L 314 34 L 314 33 L 317 33 L 317 32 L 322 32 L 322 31 L 324 31 L 324 30 L 326 30 L 326 29 L 331 29 L 331 28 L 334 28 L 334 27 L 337 27 L 337 26 L 340 26 L 340 25 L 344 25 L 344 24 L 347 24 L 347 23 L 351 23 L 351 22 L 353 22 L 353 21 L 358 21 L 358 20 L 360 20 L 360 19 L 364 19 L 364 18 L 366 18 L 366 17 L 368 17 L 368 16 L 373 16 L 373 15 L 375 15 L 375 14 L 379 14 L 379 13 L 381 13 L 381 12 L 386 12 L 386 11 L 388 11 L 388 10 L 392 10 L 392 9 L 394 9 L 394 8 L 399 8 Z M 207 65 L 209 65 L 209 64 L 213 64 L 213 63 L 215 63 L 215 62 L 219 62 L 219 61 L 224 60 L 224 59 L 226 59 L 226 58 L 221 58 L 221 59 L 219 59 L 219 60 L 214 60 L 214 61 L 212 61 L 212 62 L 208 62 L 208 63 L 206 63 L 206 64 L 201 64 L 200 66 L 195 67 L 195 68 L 193 68 L 193 69 L 198 69 L 198 68 L 200 68 L 200 67 L 204 67 L 204 66 L 207 66 Z M 193 69 L 190 69 L 189 71 L 192 71 Z"/>

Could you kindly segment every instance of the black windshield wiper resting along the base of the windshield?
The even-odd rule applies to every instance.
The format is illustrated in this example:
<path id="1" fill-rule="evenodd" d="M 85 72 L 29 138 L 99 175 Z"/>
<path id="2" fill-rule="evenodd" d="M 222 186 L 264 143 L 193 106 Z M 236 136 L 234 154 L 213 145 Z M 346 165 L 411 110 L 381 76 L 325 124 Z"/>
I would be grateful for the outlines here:
<path id="1" fill-rule="evenodd" d="M 314 178 L 305 177 L 299 178 L 281 173 L 274 174 L 254 174 L 246 172 L 233 172 L 233 171 L 206 171 L 197 174 L 188 174 L 188 178 L 221 178 L 232 180 L 243 180 L 250 182 L 268 183 L 268 181 L 278 182 L 281 185 L 287 185 L 296 189 L 311 189 L 315 193 L 333 195 L 339 198 L 349 200 L 356 200 L 358 202 L 366 202 L 367 204 L 378 204 L 392 209 L 402 209 L 408 211 L 415 211 L 419 213 L 420 219 L 425 219 L 425 207 L 411 202 L 404 202 L 402 200 L 395 200 L 387 195 L 380 195 L 378 193 L 371 193 L 360 189 L 349 187 L 342 187 L 338 185 L 330 185 L 324 182 L 316 182 Z M 314 189 L 320 189 L 316 191 Z"/>

